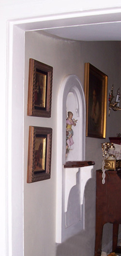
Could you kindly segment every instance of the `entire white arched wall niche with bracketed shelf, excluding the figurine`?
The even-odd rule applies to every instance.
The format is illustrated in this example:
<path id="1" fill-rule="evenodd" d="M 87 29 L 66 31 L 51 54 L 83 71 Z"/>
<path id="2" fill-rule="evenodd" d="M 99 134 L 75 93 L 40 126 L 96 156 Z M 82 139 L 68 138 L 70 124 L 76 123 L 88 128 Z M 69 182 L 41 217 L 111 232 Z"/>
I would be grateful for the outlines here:
<path id="1" fill-rule="evenodd" d="M 66 152 L 66 119 L 71 111 L 74 144 Z M 94 162 L 85 161 L 85 96 L 76 75 L 66 76 L 57 106 L 56 242 L 61 243 L 84 229 L 84 190 Z M 67 154 L 66 154 L 67 153 Z"/>

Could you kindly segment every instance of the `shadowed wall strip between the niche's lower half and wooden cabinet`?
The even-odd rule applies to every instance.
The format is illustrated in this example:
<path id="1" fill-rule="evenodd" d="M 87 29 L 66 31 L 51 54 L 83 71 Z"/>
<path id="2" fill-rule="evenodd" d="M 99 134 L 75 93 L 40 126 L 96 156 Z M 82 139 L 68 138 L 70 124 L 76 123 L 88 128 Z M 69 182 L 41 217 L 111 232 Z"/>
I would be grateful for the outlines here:
<path id="1" fill-rule="evenodd" d="M 96 172 L 85 186 L 85 230 L 57 244 L 56 256 L 93 256 L 95 246 Z"/>

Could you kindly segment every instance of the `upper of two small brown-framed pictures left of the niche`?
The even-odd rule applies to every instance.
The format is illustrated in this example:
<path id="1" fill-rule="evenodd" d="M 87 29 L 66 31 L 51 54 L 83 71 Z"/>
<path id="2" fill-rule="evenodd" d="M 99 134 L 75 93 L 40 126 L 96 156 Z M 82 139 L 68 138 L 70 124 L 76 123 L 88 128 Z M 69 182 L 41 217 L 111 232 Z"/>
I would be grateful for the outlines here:
<path id="1" fill-rule="evenodd" d="M 51 117 L 52 81 L 53 67 L 29 60 L 28 116 Z"/>

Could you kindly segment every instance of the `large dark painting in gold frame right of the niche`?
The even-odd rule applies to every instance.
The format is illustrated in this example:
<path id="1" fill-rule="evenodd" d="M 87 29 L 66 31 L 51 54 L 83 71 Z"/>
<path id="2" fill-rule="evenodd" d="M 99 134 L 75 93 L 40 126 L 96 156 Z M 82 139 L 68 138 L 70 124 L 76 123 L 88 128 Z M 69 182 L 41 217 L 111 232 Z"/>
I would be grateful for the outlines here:
<path id="1" fill-rule="evenodd" d="M 99 69 L 85 63 L 86 136 L 106 138 L 107 79 Z"/>

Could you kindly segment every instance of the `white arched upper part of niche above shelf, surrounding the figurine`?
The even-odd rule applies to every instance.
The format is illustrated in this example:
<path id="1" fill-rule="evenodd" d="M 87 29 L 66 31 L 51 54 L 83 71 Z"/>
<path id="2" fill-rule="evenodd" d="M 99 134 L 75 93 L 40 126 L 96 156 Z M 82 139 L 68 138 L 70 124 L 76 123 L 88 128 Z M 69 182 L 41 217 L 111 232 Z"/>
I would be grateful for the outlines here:
<path id="1" fill-rule="evenodd" d="M 67 112 L 73 112 L 73 118 L 77 119 L 74 127 L 74 147 L 71 156 L 66 155 L 66 118 Z M 80 80 L 76 75 L 66 76 L 62 83 L 58 97 L 58 135 L 60 134 L 60 150 L 62 164 L 68 160 L 85 160 L 85 97 Z M 59 138 L 58 138 L 59 139 Z M 78 150 L 77 150 L 78 149 Z M 72 152 L 72 151 L 71 151 Z M 59 153 L 59 155 L 60 155 Z M 70 154 L 70 152 L 69 152 Z M 60 156 L 60 158 L 61 158 Z"/>

